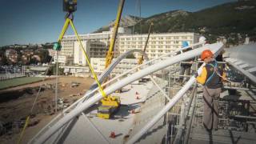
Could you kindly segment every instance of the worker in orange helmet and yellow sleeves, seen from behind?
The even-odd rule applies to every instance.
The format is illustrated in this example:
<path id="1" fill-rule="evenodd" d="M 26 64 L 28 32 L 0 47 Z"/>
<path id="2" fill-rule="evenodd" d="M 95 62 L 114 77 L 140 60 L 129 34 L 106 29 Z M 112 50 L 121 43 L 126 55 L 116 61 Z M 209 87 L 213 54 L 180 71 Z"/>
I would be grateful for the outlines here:
<path id="1" fill-rule="evenodd" d="M 218 100 L 222 91 L 222 80 L 226 77 L 224 65 L 218 65 L 214 54 L 204 50 L 201 59 L 206 63 L 202 74 L 195 74 L 197 81 L 203 85 L 204 114 L 203 125 L 206 130 L 218 130 Z"/>

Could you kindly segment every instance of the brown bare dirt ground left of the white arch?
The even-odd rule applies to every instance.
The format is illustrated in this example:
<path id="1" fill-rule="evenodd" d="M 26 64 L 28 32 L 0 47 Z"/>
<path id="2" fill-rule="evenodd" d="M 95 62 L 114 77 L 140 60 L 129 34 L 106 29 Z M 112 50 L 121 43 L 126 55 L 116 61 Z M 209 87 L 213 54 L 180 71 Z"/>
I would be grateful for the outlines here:
<path id="1" fill-rule="evenodd" d="M 66 106 L 81 98 L 94 82 L 92 78 L 59 78 L 58 84 L 58 109 L 61 111 Z M 38 94 L 42 82 L 24 86 L 17 86 L 8 90 L 0 90 L 0 143 L 17 143 L 25 119 L 30 114 L 34 98 Z M 55 79 L 43 82 L 42 92 L 38 96 L 32 112 L 33 118 L 26 129 L 21 143 L 26 143 L 37 134 L 56 114 L 55 108 Z M 59 112 L 58 111 L 58 112 Z M 3 130 L 4 129 L 4 130 Z"/>

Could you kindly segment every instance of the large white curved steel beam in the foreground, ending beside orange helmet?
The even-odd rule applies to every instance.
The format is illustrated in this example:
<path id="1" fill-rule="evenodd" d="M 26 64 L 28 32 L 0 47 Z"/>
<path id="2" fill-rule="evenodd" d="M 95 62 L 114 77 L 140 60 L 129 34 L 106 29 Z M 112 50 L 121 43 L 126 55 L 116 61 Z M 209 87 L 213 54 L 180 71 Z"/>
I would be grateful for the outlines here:
<path id="1" fill-rule="evenodd" d="M 202 53 L 203 50 L 210 49 L 214 53 L 222 47 L 222 43 L 215 43 L 207 46 L 202 46 L 201 48 L 190 50 L 182 54 L 178 54 L 172 58 L 167 58 L 166 60 L 162 60 L 161 62 L 155 63 L 154 65 L 148 66 L 145 69 L 142 69 L 134 74 L 131 74 L 129 77 L 123 78 L 122 80 L 115 82 L 105 89 L 106 94 L 111 94 L 115 90 L 122 88 L 138 80 L 139 78 L 143 78 L 146 75 L 152 74 L 158 70 L 162 70 L 167 66 L 173 65 L 174 63 L 181 62 L 190 58 L 194 58 Z M 61 118 L 57 123 L 49 128 L 46 133 L 42 134 L 36 141 L 36 143 L 44 143 L 46 142 L 51 135 L 55 134 L 57 130 L 65 126 L 67 122 L 70 122 L 71 119 L 76 118 L 82 111 L 88 109 L 94 103 L 98 102 L 102 99 L 102 94 L 95 94 L 94 97 L 89 98 L 86 102 L 83 102 L 81 105 L 74 108 L 74 110 L 70 111 L 70 113 L 66 114 L 63 118 Z"/>

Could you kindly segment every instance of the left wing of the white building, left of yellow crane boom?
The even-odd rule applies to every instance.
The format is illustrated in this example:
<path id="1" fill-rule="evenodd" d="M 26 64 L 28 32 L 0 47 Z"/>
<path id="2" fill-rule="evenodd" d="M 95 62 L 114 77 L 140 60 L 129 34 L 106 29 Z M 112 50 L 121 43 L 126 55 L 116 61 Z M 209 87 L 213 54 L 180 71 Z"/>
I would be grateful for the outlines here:
<path id="1" fill-rule="evenodd" d="M 86 49 L 86 54 L 88 54 L 89 58 L 105 58 L 107 50 L 110 46 L 110 38 L 112 34 L 112 30 L 103 31 L 102 33 L 94 33 L 94 34 L 79 34 L 82 45 Z M 118 34 L 130 34 L 131 30 L 128 28 L 120 27 L 118 28 Z M 75 35 L 65 35 L 62 38 L 62 50 L 60 55 L 68 56 L 74 58 L 75 65 L 87 65 L 86 59 L 82 52 L 81 46 Z M 116 46 L 118 46 L 116 42 Z M 114 55 L 118 55 L 118 49 L 114 49 Z"/>

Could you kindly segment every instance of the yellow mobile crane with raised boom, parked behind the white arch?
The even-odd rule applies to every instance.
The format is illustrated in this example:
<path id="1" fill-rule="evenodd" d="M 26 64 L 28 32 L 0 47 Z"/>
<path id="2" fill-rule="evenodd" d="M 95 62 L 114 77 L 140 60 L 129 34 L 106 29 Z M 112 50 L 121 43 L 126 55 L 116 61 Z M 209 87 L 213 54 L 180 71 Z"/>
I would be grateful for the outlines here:
<path id="1" fill-rule="evenodd" d="M 118 6 L 118 14 L 116 21 L 114 23 L 114 31 L 112 34 L 112 38 L 110 41 L 110 49 L 107 52 L 106 55 L 106 63 L 105 63 L 105 69 L 110 66 L 110 63 L 112 62 L 112 59 L 114 58 L 114 44 L 115 39 L 118 34 L 118 26 L 120 22 L 120 18 L 122 15 L 122 8 L 124 5 L 125 0 L 120 0 L 119 6 Z M 107 81 L 107 80 L 106 80 Z M 105 82 L 106 82 L 105 81 Z M 112 114 L 114 114 L 120 107 L 120 98 L 117 96 L 108 95 L 101 100 L 101 106 L 98 106 L 98 114 L 97 116 L 99 118 L 110 118 Z"/>

